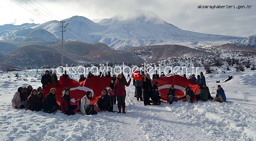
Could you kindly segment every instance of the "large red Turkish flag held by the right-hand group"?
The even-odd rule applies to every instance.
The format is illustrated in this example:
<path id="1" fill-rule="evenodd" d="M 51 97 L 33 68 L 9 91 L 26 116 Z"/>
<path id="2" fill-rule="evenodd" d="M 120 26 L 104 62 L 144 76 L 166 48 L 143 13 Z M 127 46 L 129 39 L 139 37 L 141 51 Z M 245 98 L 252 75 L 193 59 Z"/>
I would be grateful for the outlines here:
<path id="1" fill-rule="evenodd" d="M 189 86 L 191 90 L 193 90 L 194 94 L 198 94 L 200 91 L 199 85 L 193 83 L 193 81 L 188 80 L 187 78 L 184 78 L 178 74 L 174 76 L 165 76 L 163 78 L 158 78 L 156 80 L 152 80 L 153 84 L 154 82 L 158 82 L 158 90 L 161 94 L 161 99 L 167 101 L 167 94 L 168 90 L 171 87 L 171 85 L 174 85 L 175 96 L 178 97 L 178 99 L 181 99 L 186 94 L 186 87 Z M 194 97 L 194 100 L 196 98 Z"/>

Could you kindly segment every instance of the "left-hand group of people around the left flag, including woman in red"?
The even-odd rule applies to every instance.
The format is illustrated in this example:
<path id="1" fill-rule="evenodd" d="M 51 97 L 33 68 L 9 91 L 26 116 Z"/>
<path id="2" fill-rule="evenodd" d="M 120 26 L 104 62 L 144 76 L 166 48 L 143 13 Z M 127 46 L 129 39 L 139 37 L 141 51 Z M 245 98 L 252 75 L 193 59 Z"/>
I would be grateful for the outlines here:
<path id="1" fill-rule="evenodd" d="M 62 75 L 63 77 L 69 78 L 69 75 L 67 75 L 67 72 L 65 71 Z M 89 72 L 87 78 L 91 78 L 94 75 Z M 103 75 L 100 74 L 100 77 Z M 105 76 L 103 77 L 111 77 L 110 72 L 106 72 Z M 87 78 L 83 76 L 83 74 L 80 75 L 79 81 L 84 81 Z M 58 81 L 58 78 L 56 76 L 56 71 L 45 71 L 45 74 L 41 78 L 41 83 L 43 85 L 42 87 L 39 87 L 37 90 L 33 89 L 31 85 L 28 87 L 19 87 L 17 92 L 15 92 L 15 95 L 12 99 L 12 107 L 15 109 L 29 109 L 32 111 L 41 111 L 47 113 L 54 113 L 57 110 L 61 110 L 64 114 L 67 115 L 73 115 L 75 114 L 74 111 L 80 112 L 81 114 L 86 115 L 93 115 L 97 114 L 97 111 L 95 110 L 95 105 L 90 104 L 90 100 L 92 99 L 92 92 L 87 91 L 86 95 L 76 100 L 76 105 L 70 104 L 70 88 L 64 88 L 65 94 L 61 96 L 60 105 L 58 105 L 56 101 L 56 89 L 52 88 L 50 89 L 50 92 L 43 97 L 43 89 L 48 85 L 56 86 L 56 83 Z M 113 77 L 111 77 L 111 82 L 109 84 L 109 87 L 106 87 L 106 89 L 102 90 L 102 95 L 100 98 L 98 98 L 97 106 L 99 110 L 102 111 L 109 111 L 109 112 L 115 112 L 113 111 L 113 105 L 117 103 L 118 113 L 126 113 L 125 112 L 125 98 L 126 98 L 126 90 L 125 86 L 128 87 L 130 85 L 131 78 L 129 81 L 126 81 L 126 78 L 124 77 L 124 74 L 119 74 L 118 77 L 116 77 L 115 74 L 113 74 Z"/>

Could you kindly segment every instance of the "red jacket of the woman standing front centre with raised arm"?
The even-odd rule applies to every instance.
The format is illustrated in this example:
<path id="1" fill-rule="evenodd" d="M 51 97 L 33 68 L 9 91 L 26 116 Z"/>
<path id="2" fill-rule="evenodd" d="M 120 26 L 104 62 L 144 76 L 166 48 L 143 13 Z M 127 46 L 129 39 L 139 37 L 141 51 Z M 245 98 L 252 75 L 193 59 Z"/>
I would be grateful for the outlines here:
<path id="1" fill-rule="evenodd" d="M 126 96 L 126 90 L 125 90 L 125 86 L 129 87 L 131 81 L 124 81 L 124 83 L 119 82 L 119 81 L 115 81 L 115 86 L 114 86 L 114 95 L 115 96 Z"/>

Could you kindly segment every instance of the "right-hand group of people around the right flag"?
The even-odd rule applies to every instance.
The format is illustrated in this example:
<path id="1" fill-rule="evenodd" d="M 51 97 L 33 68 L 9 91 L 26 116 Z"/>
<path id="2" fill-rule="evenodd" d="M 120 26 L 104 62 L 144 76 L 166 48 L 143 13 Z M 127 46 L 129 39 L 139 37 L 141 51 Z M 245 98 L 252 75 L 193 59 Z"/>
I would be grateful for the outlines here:
<path id="1" fill-rule="evenodd" d="M 152 76 L 152 80 L 150 78 L 150 75 L 145 72 L 141 72 L 142 80 L 135 80 L 133 81 L 133 85 L 135 86 L 135 95 L 134 97 L 137 98 L 137 101 L 144 101 L 144 105 L 160 105 L 160 94 L 158 91 L 158 82 L 155 81 L 154 84 L 152 83 L 152 80 L 165 77 L 165 74 L 161 72 L 161 75 L 155 72 Z M 183 75 L 186 77 L 186 74 Z M 190 89 L 189 86 L 186 87 L 186 95 L 181 98 L 182 101 L 188 101 L 193 102 L 194 98 L 196 98 L 196 101 L 218 101 L 218 102 L 224 102 L 226 101 L 226 95 L 221 87 L 221 85 L 217 86 L 217 92 L 216 97 L 211 97 L 211 93 L 209 88 L 206 86 L 206 81 L 203 72 L 200 72 L 200 75 L 195 78 L 195 74 L 192 74 L 189 79 L 191 79 L 195 84 L 198 84 L 200 86 L 200 92 L 198 94 L 194 94 L 193 90 Z M 167 99 L 169 101 L 169 104 L 172 104 L 174 101 L 178 101 L 178 97 L 176 97 L 176 89 L 174 89 L 174 85 L 171 85 L 171 87 L 168 90 Z M 142 98 L 143 97 L 143 98 Z M 150 100 L 151 99 L 151 100 Z"/>

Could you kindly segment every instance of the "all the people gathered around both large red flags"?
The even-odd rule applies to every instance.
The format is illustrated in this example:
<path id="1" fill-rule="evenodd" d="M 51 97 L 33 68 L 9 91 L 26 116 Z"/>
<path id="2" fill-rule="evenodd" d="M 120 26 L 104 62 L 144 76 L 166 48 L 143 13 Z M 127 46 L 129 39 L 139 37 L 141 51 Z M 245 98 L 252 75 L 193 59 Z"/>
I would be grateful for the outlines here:
<path id="1" fill-rule="evenodd" d="M 141 80 L 133 80 L 133 85 L 135 86 L 135 97 L 137 97 L 137 101 L 144 101 L 144 105 L 160 105 L 160 94 L 158 91 L 158 82 L 155 81 L 154 84 L 152 83 L 152 79 L 150 78 L 150 74 L 145 72 L 141 72 L 142 79 Z M 69 78 L 67 72 L 65 71 L 62 75 L 63 77 Z M 87 78 L 91 78 L 94 75 L 89 72 Z M 111 77 L 110 72 L 106 72 L 105 76 L 100 74 L 100 77 Z M 163 74 L 159 76 L 156 73 L 153 75 L 153 79 L 158 79 L 160 77 L 165 77 Z M 84 77 L 83 74 L 80 75 L 79 81 L 84 81 L 87 78 Z M 211 97 L 209 88 L 206 86 L 205 78 L 203 73 L 200 73 L 200 78 L 195 78 L 195 75 L 192 75 L 194 83 L 200 85 L 200 92 L 198 94 L 194 94 L 193 90 L 186 87 L 186 95 L 181 99 L 182 101 L 192 102 L 194 97 L 201 101 L 219 101 L 224 102 L 226 101 L 226 96 L 224 93 L 223 88 L 221 85 L 218 85 L 217 94 L 215 98 Z M 198 82 L 199 80 L 199 82 Z M 75 112 L 79 112 L 83 115 L 94 115 L 97 114 L 97 111 L 109 111 L 109 112 L 117 112 L 117 113 L 126 113 L 125 111 L 125 99 L 126 99 L 126 90 L 125 87 L 128 87 L 131 82 L 131 78 L 127 81 L 124 74 L 120 73 L 118 76 L 113 74 L 111 77 L 111 82 L 109 87 L 103 89 L 101 92 L 101 97 L 98 98 L 97 107 L 98 110 L 95 110 L 95 105 L 90 104 L 90 100 L 92 99 L 92 92 L 87 91 L 83 98 L 77 99 L 75 101 L 75 105 L 70 103 L 70 88 L 65 88 L 65 94 L 61 96 L 60 105 L 58 105 L 56 101 L 56 89 L 50 89 L 50 92 L 45 96 L 43 96 L 43 89 L 48 85 L 51 84 L 56 86 L 58 78 L 56 76 L 56 71 L 45 71 L 45 74 L 41 78 L 41 83 L 43 87 L 38 87 L 37 89 L 33 89 L 31 85 L 28 87 L 19 87 L 17 92 L 15 92 L 13 99 L 12 99 L 12 107 L 15 109 L 29 109 L 32 111 L 41 111 L 47 113 L 54 113 L 57 110 L 60 110 L 64 114 L 67 115 L 74 115 Z M 197 83 L 198 82 L 198 83 Z M 176 97 L 176 89 L 174 85 L 168 90 L 167 99 L 169 103 L 172 104 L 174 101 L 178 100 Z M 113 105 L 117 103 L 118 111 L 113 111 Z"/>

